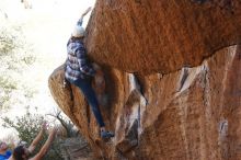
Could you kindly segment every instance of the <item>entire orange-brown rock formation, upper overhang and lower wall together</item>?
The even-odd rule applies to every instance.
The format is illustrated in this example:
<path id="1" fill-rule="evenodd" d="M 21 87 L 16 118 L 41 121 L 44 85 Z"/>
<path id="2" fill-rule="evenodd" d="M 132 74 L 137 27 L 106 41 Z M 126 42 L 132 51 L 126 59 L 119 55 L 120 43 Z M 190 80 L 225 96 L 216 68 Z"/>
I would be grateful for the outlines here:
<path id="1" fill-rule="evenodd" d="M 241 47 L 230 46 L 241 41 L 240 9 L 239 0 L 96 2 L 87 48 L 104 66 L 93 87 L 115 138 L 100 139 L 82 93 L 62 88 L 62 66 L 49 78 L 96 158 L 241 159 Z"/>

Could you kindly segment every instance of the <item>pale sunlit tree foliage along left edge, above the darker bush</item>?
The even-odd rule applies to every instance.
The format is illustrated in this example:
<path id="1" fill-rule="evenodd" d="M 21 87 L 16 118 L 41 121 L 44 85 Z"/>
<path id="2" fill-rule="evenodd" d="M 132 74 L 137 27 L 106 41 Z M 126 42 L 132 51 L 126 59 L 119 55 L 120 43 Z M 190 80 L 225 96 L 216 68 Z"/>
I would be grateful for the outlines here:
<path id="1" fill-rule="evenodd" d="M 13 98 L 13 93 L 22 89 L 24 82 L 16 80 L 22 71 L 32 65 L 36 57 L 28 48 L 21 26 L 5 24 L 0 26 L 0 110 L 9 108 L 20 100 Z M 24 90 L 23 96 L 33 96 L 31 89 Z M 15 99 L 14 102 L 11 99 Z"/>

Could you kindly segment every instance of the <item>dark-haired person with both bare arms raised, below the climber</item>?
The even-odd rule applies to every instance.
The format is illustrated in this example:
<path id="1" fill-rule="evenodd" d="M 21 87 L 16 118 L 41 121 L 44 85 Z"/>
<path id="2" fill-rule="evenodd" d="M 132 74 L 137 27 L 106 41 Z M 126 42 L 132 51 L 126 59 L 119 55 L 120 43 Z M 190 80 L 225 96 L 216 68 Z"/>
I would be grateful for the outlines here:
<path id="1" fill-rule="evenodd" d="M 20 145 L 16 148 L 14 148 L 12 156 L 9 160 L 42 160 L 44 156 L 47 153 L 48 149 L 50 148 L 50 145 L 53 144 L 57 128 L 53 128 L 48 135 L 48 139 L 45 141 L 44 146 L 41 148 L 38 153 L 36 153 L 33 158 L 28 158 L 31 153 L 35 150 L 36 146 L 41 142 L 41 139 L 47 130 L 46 123 L 42 125 L 41 132 L 37 134 L 35 139 L 32 141 L 31 146 L 26 148 L 24 145 Z"/>

